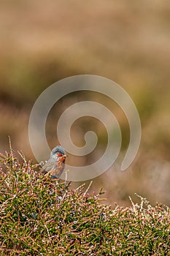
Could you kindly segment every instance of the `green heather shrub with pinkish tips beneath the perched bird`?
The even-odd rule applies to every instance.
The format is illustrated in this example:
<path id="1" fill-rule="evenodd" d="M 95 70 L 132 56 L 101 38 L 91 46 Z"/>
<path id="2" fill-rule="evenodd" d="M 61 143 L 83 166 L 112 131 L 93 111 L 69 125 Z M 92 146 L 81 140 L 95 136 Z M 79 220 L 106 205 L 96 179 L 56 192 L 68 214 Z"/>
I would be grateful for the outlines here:
<path id="1" fill-rule="evenodd" d="M 113 209 L 102 190 L 90 196 L 44 178 L 12 151 L 0 161 L 0 255 L 169 255 L 167 206 L 141 198 Z"/>

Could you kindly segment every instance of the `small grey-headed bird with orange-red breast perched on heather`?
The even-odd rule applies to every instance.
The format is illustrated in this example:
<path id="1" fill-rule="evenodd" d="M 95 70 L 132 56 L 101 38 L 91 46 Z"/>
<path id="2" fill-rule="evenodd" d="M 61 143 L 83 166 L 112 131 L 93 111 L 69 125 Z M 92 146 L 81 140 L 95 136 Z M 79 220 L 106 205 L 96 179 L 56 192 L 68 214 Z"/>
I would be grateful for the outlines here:
<path id="1" fill-rule="evenodd" d="M 50 178 L 60 178 L 65 167 L 66 157 L 68 157 L 66 151 L 61 146 L 56 146 L 51 151 L 50 159 L 40 170 L 41 173 Z"/>

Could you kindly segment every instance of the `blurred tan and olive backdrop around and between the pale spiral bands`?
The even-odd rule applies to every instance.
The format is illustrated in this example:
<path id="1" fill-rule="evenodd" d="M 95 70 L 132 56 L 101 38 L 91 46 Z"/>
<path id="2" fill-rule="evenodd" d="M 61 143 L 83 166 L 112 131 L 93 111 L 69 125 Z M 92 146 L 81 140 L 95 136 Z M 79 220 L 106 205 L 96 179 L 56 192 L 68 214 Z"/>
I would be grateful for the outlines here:
<path id="1" fill-rule="evenodd" d="M 90 192 L 103 187 L 106 203 L 122 206 L 130 204 L 129 195 L 138 200 L 134 193 L 153 204 L 170 206 L 169 1 L 11 0 L 1 1 L 0 17 L 1 153 L 9 151 L 10 135 L 12 148 L 36 162 L 28 140 L 28 120 L 36 98 L 62 78 L 100 75 L 114 80 L 134 100 L 142 140 L 133 165 L 121 172 L 117 160 L 93 180 Z M 50 148 L 58 144 L 59 116 L 81 100 L 96 100 L 114 112 L 122 129 L 123 154 L 129 141 L 123 111 L 101 94 L 90 92 L 70 94 L 55 104 L 47 118 Z M 83 134 L 89 129 L 98 134 L 100 151 L 106 146 L 106 131 L 93 118 L 80 118 L 72 128 L 77 146 L 83 145 Z M 95 154 L 83 159 L 70 156 L 68 164 L 84 165 L 94 159 Z"/>

